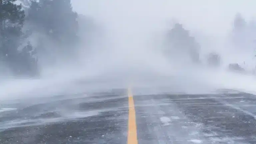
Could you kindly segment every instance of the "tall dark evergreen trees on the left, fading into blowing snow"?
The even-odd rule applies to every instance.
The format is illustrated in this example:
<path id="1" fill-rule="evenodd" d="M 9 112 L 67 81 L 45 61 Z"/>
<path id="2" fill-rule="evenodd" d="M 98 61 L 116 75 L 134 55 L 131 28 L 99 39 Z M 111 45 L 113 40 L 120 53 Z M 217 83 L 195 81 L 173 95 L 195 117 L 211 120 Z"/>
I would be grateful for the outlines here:
<path id="1" fill-rule="evenodd" d="M 40 60 L 72 55 L 77 18 L 70 0 L 0 0 L 0 71 L 38 76 Z"/>

